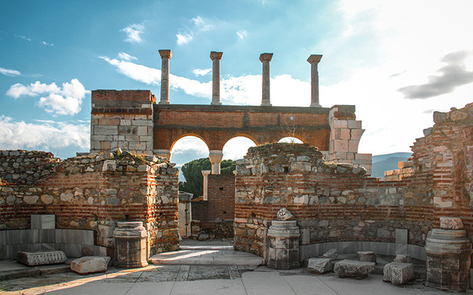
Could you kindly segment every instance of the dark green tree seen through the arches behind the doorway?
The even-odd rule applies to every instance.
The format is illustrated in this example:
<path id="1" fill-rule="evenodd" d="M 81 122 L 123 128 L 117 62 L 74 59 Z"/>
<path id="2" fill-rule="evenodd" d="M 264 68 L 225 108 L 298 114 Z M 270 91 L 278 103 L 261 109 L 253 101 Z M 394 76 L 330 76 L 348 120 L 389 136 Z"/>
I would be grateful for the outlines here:
<path id="1" fill-rule="evenodd" d="M 232 160 L 223 160 L 220 163 L 221 174 L 232 174 L 237 167 L 237 163 Z M 202 170 L 212 169 L 212 164 L 208 157 L 193 160 L 185 163 L 180 171 L 185 177 L 185 182 L 179 182 L 179 190 L 194 194 L 194 197 L 204 194 L 204 176 Z"/>

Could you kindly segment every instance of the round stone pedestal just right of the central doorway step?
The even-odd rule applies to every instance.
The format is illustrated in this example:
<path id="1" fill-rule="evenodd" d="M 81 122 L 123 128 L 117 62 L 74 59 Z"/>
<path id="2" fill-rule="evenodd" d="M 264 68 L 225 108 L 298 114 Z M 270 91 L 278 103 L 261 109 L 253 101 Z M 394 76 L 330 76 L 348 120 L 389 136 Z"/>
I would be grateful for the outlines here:
<path id="1" fill-rule="evenodd" d="M 273 221 L 268 229 L 268 267 L 293 269 L 299 264 L 297 221 Z"/>

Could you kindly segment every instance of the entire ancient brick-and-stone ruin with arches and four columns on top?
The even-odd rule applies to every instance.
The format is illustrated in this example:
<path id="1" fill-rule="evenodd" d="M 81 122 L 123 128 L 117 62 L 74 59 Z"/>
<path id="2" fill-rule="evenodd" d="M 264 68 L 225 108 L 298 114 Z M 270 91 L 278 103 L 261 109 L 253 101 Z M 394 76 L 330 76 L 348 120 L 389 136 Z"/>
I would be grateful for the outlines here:
<path id="1" fill-rule="evenodd" d="M 364 277 L 376 255 L 398 255 L 385 267 L 388 282 L 412 279 L 412 257 L 426 261 L 430 286 L 469 288 L 473 104 L 435 112 L 435 125 L 415 141 L 411 159 L 382 181 L 370 176 L 371 155 L 358 153 L 364 130 L 354 106 L 320 106 L 321 55 L 308 59 L 310 106 L 277 107 L 269 93 L 272 54 L 260 57 L 261 106 L 221 104 L 222 52 L 210 55 L 212 104 L 170 104 L 172 54 L 160 54 L 159 101 L 147 90 L 92 91 L 90 153 L 60 160 L 48 152 L 0 151 L 0 259 L 55 250 L 58 257 L 107 256 L 121 267 L 140 267 L 151 255 L 178 250 L 179 230 L 190 236 L 207 230 L 232 233 L 237 250 L 276 269 L 312 259 L 313 272 L 335 266 L 340 277 Z M 304 143 L 277 143 L 289 133 Z M 212 170 L 203 172 L 198 201 L 185 194 L 179 200 L 178 169 L 168 160 L 185 135 L 210 150 Z M 220 175 L 223 146 L 237 135 L 257 146 L 234 175 Z M 329 252 L 370 258 L 335 263 L 337 255 L 322 257 Z M 457 262 L 458 269 L 445 267 Z"/>

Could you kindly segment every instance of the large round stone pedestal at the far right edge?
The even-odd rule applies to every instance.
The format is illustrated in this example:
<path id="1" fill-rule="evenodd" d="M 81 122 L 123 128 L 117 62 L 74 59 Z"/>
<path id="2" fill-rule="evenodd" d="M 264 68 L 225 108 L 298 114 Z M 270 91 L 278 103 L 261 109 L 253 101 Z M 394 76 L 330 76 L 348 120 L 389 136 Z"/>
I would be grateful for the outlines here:
<path id="1" fill-rule="evenodd" d="M 465 230 L 434 228 L 425 240 L 425 252 L 425 286 L 454 291 L 469 289 L 472 243 Z"/>

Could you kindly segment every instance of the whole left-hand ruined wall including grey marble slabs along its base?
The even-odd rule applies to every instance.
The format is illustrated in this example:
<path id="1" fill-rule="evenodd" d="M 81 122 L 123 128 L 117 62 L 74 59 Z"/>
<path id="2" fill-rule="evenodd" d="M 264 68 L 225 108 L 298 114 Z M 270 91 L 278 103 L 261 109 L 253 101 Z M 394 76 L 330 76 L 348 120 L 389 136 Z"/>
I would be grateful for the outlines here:
<path id="1" fill-rule="evenodd" d="M 143 221 L 150 255 L 177 249 L 178 169 L 172 166 L 111 152 L 60 161 L 45 152 L 1 151 L 0 258 L 45 247 L 69 257 L 110 256 L 117 221 Z M 55 215 L 53 226 L 34 228 L 31 216 L 44 214 Z"/>

